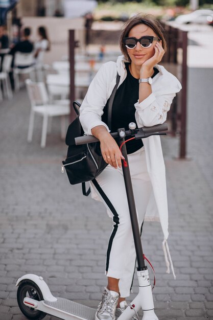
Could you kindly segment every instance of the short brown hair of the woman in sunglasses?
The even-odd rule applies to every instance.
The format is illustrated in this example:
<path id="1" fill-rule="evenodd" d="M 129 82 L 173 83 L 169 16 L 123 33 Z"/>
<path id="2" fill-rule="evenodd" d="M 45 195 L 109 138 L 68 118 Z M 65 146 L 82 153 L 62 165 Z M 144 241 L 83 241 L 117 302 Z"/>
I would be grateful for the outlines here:
<path id="1" fill-rule="evenodd" d="M 165 42 L 165 38 L 163 35 L 163 28 L 162 28 L 159 20 L 157 20 L 151 14 L 136 14 L 132 18 L 127 20 L 127 22 L 124 25 L 123 32 L 120 36 L 121 51 L 122 51 L 123 55 L 125 56 L 126 60 L 128 60 L 129 62 L 131 62 L 131 60 L 130 60 L 129 55 L 127 53 L 127 48 L 125 47 L 125 45 L 123 43 L 123 38 L 128 37 L 130 30 L 133 27 L 140 25 L 140 24 L 143 24 L 143 25 L 150 27 L 154 31 L 154 33 L 158 36 L 158 38 L 160 40 L 162 40 L 162 47 L 163 47 L 164 51 L 167 51 L 167 43 Z"/>

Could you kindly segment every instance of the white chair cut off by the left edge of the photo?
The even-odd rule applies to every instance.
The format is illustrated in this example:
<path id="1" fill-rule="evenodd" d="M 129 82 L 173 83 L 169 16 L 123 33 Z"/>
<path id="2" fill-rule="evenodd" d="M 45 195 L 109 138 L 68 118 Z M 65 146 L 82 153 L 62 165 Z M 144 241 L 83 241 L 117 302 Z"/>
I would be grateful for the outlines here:
<path id="1" fill-rule="evenodd" d="M 8 99 L 12 99 L 12 89 L 10 83 L 9 72 L 11 69 L 11 62 L 13 57 L 11 55 L 5 55 L 2 63 L 2 72 L 0 73 L 0 81 L 3 82 L 4 94 L 7 93 Z"/>

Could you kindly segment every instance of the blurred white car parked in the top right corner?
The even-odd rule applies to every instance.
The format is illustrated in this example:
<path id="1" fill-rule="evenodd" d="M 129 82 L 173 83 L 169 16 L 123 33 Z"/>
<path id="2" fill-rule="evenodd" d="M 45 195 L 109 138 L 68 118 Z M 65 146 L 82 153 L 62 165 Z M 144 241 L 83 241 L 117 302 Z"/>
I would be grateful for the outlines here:
<path id="1" fill-rule="evenodd" d="M 211 9 L 200 9 L 188 14 L 179 15 L 175 22 L 178 24 L 207 24 L 207 17 L 213 15 Z"/>

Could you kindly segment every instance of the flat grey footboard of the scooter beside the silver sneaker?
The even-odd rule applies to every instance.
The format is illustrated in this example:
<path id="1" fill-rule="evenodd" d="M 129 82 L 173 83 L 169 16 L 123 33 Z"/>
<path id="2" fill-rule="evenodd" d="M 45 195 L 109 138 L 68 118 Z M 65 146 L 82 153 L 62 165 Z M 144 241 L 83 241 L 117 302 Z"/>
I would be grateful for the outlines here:
<path id="1" fill-rule="evenodd" d="M 55 302 L 44 300 L 43 303 L 49 307 L 71 313 L 74 316 L 77 316 L 86 320 L 94 320 L 94 316 L 96 314 L 96 309 L 83 306 L 77 302 L 70 301 L 63 298 L 57 298 L 57 301 Z"/>

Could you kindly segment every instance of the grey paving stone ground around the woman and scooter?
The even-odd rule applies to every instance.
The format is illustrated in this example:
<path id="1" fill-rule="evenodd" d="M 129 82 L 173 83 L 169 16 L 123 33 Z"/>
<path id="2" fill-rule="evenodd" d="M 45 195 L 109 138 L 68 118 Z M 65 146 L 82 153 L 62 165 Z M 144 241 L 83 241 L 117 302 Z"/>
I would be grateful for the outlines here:
<path id="1" fill-rule="evenodd" d="M 193 93 L 193 82 L 189 90 Z M 193 99 L 189 115 L 195 129 L 200 115 L 198 106 L 193 112 Z M 111 221 L 101 203 L 81 195 L 81 187 L 70 186 L 61 173 L 66 146 L 59 138 L 58 119 L 53 120 L 45 149 L 39 145 L 39 117 L 33 142 L 27 143 L 28 121 L 29 101 L 22 89 L 0 105 L 0 320 L 26 319 L 17 306 L 15 287 L 16 279 L 25 273 L 42 275 L 54 295 L 94 308 L 106 285 Z M 200 153 L 197 158 L 192 130 L 188 137 L 191 161 L 174 158 L 178 138 L 162 138 L 170 211 L 168 243 L 176 280 L 165 273 L 160 225 L 146 223 L 142 236 L 144 252 L 156 271 L 153 296 L 159 320 L 213 319 L 213 191 L 207 179 L 212 169 L 203 170 L 207 155 Z M 135 278 L 130 300 L 136 293 Z"/>

